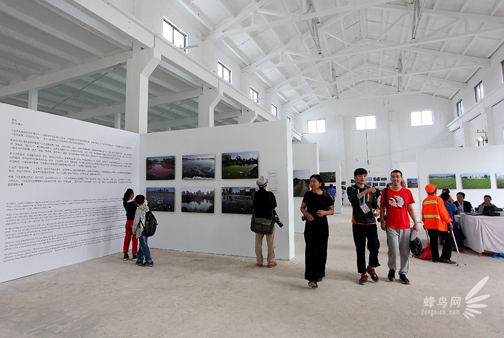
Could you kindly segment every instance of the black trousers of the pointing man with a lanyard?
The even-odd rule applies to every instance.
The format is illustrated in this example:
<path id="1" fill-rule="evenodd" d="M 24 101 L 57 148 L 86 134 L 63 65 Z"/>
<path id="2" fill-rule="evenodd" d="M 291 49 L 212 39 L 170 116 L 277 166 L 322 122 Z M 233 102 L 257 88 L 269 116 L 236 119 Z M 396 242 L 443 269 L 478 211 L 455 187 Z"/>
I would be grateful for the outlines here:
<path id="1" fill-rule="evenodd" d="M 357 272 L 366 273 L 366 239 L 367 250 L 369 250 L 369 263 L 371 267 L 380 266 L 378 262 L 378 251 L 380 250 L 380 240 L 374 224 L 352 224 L 353 242 L 357 253 Z"/>

